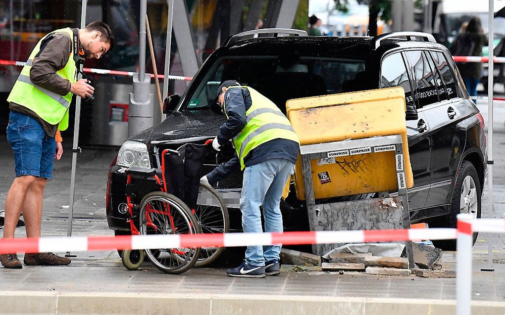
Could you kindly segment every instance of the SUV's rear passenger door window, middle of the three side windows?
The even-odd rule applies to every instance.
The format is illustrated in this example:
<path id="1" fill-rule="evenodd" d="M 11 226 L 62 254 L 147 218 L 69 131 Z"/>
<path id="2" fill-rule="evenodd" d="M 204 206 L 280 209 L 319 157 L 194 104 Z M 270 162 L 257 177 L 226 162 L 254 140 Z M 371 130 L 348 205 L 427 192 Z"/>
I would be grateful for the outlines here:
<path id="1" fill-rule="evenodd" d="M 421 50 L 409 50 L 405 52 L 405 55 L 414 75 L 414 98 L 417 100 L 418 108 L 438 102 L 435 77 L 426 55 Z"/>

